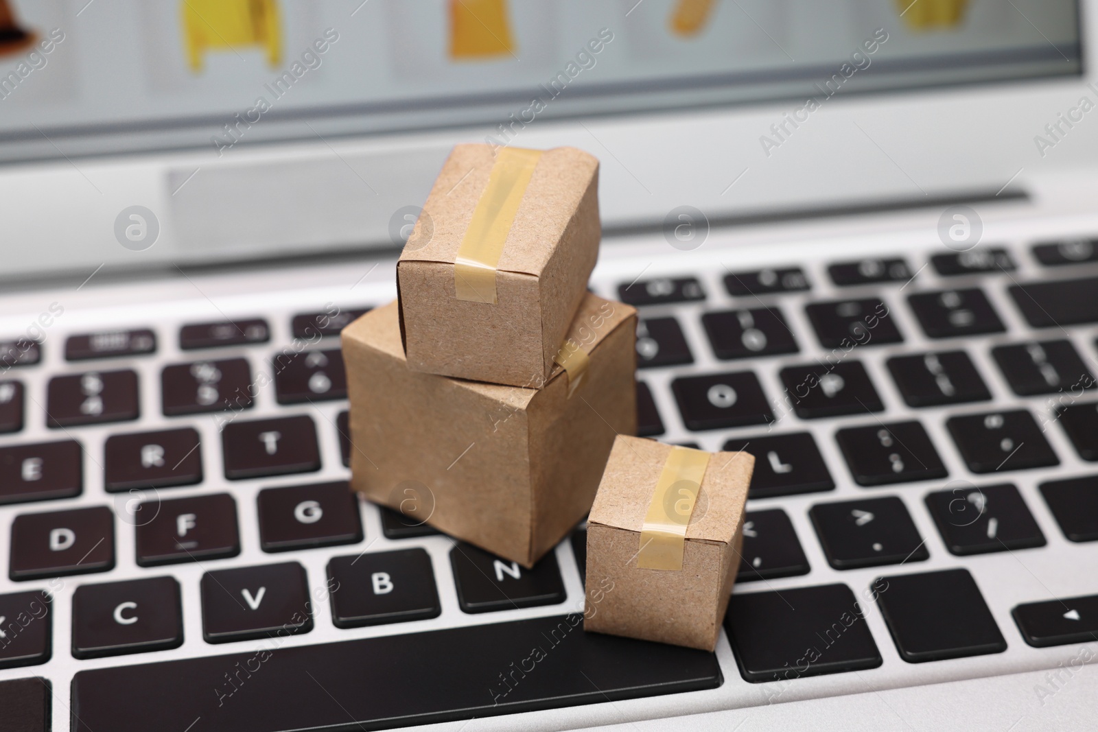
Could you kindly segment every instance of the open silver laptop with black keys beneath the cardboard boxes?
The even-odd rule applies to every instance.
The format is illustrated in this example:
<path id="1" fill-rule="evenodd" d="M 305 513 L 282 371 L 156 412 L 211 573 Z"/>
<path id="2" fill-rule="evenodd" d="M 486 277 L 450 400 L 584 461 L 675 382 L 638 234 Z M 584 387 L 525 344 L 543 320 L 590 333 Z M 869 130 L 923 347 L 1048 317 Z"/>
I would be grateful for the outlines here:
<path id="1" fill-rule="evenodd" d="M 1095 10 L 0 2 L 0 729 L 1093 727 Z M 755 455 L 712 654 L 347 491 L 462 142 L 600 158 L 640 433 Z"/>

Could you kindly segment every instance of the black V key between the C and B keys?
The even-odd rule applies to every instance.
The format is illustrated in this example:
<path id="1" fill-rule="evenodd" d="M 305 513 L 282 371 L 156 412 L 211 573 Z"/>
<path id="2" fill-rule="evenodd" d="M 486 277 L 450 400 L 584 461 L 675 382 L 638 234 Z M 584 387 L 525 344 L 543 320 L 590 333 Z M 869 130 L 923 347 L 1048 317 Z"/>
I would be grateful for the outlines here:
<path id="1" fill-rule="evenodd" d="M 307 633 L 313 629 L 305 568 L 296 562 L 202 575 L 202 635 L 208 643 Z"/>

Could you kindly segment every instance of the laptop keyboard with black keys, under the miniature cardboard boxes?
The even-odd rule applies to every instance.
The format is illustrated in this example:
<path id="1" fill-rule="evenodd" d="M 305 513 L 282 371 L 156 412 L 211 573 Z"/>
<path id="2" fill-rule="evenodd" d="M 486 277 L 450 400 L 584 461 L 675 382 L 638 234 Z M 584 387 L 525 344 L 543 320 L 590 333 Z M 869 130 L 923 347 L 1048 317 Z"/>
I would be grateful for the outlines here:
<path id="1" fill-rule="evenodd" d="M 716 655 L 573 630 L 582 528 L 527 571 L 348 493 L 336 336 L 380 300 L 8 338 L 0 700 L 46 689 L 53 730 L 377 729 L 1054 667 L 1098 640 L 1093 573 L 1041 570 L 1098 540 L 1087 247 L 593 283 L 640 309 L 640 435 L 757 459 Z"/>

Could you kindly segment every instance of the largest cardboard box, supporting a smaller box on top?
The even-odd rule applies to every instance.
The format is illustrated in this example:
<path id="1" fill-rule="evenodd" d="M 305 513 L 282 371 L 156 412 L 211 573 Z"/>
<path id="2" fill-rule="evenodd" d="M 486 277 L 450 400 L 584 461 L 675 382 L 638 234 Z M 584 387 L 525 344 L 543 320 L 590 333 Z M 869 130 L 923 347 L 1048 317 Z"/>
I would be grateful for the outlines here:
<path id="1" fill-rule="evenodd" d="M 534 390 L 412 371 L 396 303 L 367 313 L 343 330 L 351 485 L 531 567 L 591 508 L 615 435 L 636 432 L 636 309 L 589 294 L 568 334 L 582 378 L 558 365 Z"/>

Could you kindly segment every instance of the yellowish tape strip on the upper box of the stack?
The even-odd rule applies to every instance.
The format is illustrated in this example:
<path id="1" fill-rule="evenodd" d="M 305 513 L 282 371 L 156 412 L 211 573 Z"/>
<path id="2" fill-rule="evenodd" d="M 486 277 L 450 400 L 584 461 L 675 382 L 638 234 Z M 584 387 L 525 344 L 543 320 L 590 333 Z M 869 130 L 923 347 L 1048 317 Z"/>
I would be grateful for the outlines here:
<path id="1" fill-rule="evenodd" d="M 488 188 L 473 209 L 473 217 L 453 262 L 453 290 L 458 300 L 491 305 L 498 302 L 496 266 L 540 158 L 541 150 L 514 147 L 504 147 L 496 154 Z"/>

